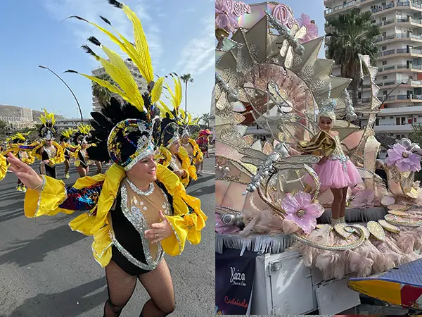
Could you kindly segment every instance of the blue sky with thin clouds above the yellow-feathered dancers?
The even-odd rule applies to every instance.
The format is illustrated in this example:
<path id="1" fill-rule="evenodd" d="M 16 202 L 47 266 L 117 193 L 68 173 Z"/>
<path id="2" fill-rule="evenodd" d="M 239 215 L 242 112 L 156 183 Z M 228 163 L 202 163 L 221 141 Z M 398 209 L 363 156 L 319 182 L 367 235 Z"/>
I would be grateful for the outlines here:
<path id="1" fill-rule="evenodd" d="M 210 111 L 214 75 L 214 1 L 213 0 L 127 0 L 141 18 L 150 44 L 154 72 L 191 73 L 195 82 L 188 87 L 188 111 Z M 108 18 L 115 28 L 132 39 L 132 24 L 123 11 L 107 0 L 19 0 L 4 1 L 0 11 L 2 49 L 0 50 L 0 104 L 25 106 L 79 116 L 68 89 L 57 77 L 42 70 L 44 65 L 58 73 L 75 92 L 84 117 L 91 111 L 91 83 L 68 69 L 91 73 L 98 66 L 82 51 L 90 35 L 118 51 L 105 35 L 69 15 L 104 25 L 98 15 Z M 91 45 L 92 46 L 92 45 Z M 100 53 L 96 49 L 97 53 Z M 184 104 L 184 100 L 182 101 Z"/>

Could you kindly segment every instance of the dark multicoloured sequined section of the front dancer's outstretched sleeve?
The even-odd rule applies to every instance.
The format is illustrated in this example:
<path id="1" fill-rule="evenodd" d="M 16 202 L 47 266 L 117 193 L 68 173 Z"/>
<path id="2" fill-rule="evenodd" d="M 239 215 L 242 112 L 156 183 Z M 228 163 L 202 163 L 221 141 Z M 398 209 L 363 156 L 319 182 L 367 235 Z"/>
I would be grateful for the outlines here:
<path id="1" fill-rule="evenodd" d="M 98 197 L 103 189 L 104 182 L 97 182 L 89 187 L 76 189 L 75 187 L 66 187 L 68 198 L 60 204 L 60 208 L 74 211 L 90 211 L 97 204 Z"/>

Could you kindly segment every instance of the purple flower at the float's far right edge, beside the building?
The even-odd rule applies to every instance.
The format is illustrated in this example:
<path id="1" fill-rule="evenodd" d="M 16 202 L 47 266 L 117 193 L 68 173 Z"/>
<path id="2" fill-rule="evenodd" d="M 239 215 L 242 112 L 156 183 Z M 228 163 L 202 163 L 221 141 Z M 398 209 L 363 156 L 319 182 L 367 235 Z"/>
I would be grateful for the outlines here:
<path id="1" fill-rule="evenodd" d="M 392 149 L 388 150 L 388 158 L 385 159 L 385 163 L 388 166 L 395 165 L 400 173 L 418 172 L 421 170 L 421 159 L 422 156 L 414 154 L 411 151 L 407 151 L 402 144 L 394 144 Z"/>

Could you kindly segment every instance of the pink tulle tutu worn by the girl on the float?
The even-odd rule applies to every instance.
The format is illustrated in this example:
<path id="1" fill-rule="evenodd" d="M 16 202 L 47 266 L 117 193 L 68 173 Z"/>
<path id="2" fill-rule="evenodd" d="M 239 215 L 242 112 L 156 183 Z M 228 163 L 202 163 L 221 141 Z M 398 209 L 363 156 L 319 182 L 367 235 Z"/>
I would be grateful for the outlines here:
<path id="1" fill-rule="evenodd" d="M 352 161 L 347 160 L 345 164 L 347 168 L 339 160 L 328 159 L 324 164 L 312 166 L 318 174 L 322 192 L 328 188 L 354 187 L 362 182 L 359 171 Z M 347 173 L 345 173 L 346 170 Z M 305 182 L 314 185 L 314 181 L 309 175 L 305 177 Z"/>

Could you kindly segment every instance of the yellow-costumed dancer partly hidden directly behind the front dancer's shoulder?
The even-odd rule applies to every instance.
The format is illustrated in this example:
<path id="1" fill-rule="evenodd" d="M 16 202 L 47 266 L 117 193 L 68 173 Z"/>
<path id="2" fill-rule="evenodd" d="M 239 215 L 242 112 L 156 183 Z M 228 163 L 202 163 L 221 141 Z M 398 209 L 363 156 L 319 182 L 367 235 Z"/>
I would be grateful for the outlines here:
<path id="1" fill-rule="evenodd" d="M 174 80 L 174 92 L 166 84 L 170 92 L 173 110 L 162 101 L 160 101 L 160 113 L 162 116 L 160 128 L 160 154 L 159 163 L 166 166 L 174 174 L 179 176 L 182 184 L 187 187 L 191 180 L 196 180 L 196 168 L 191 165 L 191 159 L 184 147 L 180 146 L 179 120 L 181 115 L 181 82 L 179 77 L 170 74 Z"/>

